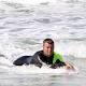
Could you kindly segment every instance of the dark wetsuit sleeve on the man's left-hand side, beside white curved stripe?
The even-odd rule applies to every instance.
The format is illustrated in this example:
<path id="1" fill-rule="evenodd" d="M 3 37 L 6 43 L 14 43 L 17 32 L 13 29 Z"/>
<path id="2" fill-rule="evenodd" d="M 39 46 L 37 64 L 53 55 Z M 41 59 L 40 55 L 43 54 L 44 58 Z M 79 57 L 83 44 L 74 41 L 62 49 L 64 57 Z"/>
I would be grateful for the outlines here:
<path id="1" fill-rule="evenodd" d="M 40 62 L 40 56 L 39 56 L 39 52 L 37 52 L 33 56 L 32 59 L 30 61 L 31 64 L 35 64 L 37 67 L 42 67 L 42 63 Z"/>

